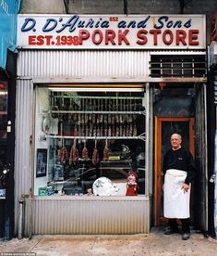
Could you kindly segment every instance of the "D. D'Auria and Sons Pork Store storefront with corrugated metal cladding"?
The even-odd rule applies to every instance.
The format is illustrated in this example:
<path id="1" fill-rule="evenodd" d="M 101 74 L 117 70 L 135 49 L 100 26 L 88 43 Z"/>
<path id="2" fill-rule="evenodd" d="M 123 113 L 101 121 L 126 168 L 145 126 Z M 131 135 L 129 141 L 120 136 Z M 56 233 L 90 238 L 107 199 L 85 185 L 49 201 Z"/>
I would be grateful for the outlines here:
<path id="1" fill-rule="evenodd" d="M 17 230 L 133 234 L 161 224 L 171 132 L 185 133 L 207 172 L 194 141 L 206 139 L 204 16 L 19 15 L 18 49 Z"/>

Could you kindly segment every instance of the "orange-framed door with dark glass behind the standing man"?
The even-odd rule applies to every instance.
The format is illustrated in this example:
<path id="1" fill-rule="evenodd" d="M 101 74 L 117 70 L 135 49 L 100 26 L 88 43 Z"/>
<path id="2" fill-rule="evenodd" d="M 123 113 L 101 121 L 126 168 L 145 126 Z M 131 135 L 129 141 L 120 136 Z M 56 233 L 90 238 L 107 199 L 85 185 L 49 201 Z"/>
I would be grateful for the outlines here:
<path id="1" fill-rule="evenodd" d="M 155 118 L 155 157 L 154 157 L 154 224 L 165 222 L 163 218 L 163 156 L 170 148 L 171 134 L 182 135 L 182 145 L 195 156 L 195 119 L 187 117 L 156 117 Z M 192 208 L 191 208 L 192 209 Z M 193 216 L 193 214 L 191 214 Z"/>

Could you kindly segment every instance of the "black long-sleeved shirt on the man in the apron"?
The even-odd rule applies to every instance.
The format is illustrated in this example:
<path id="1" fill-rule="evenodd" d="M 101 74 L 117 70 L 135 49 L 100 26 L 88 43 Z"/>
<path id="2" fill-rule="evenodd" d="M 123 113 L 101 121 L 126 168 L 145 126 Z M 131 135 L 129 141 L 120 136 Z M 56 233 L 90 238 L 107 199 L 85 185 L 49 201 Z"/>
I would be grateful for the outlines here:
<path id="1" fill-rule="evenodd" d="M 163 174 L 165 174 L 168 169 L 177 169 L 187 172 L 186 184 L 193 181 L 196 172 L 193 157 L 184 147 L 180 147 L 177 150 L 171 148 L 165 153 L 163 158 Z"/>

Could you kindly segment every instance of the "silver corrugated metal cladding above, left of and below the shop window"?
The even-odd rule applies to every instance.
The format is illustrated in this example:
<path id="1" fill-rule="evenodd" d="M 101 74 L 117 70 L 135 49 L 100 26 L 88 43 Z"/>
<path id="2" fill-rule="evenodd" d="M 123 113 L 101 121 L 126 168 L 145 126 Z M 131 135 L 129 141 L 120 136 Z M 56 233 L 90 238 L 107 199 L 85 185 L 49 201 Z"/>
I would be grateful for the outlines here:
<path id="1" fill-rule="evenodd" d="M 140 77 L 148 54 L 139 51 L 21 51 L 18 55 L 15 231 L 18 198 L 29 195 L 34 77 Z M 30 79 L 29 79 L 30 78 Z M 31 204 L 32 203 L 32 204 Z M 24 234 L 134 234 L 150 231 L 150 201 L 133 198 L 26 198 Z M 31 215 L 32 212 L 32 215 Z M 32 227 L 31 227 L 32 221 Z"/>

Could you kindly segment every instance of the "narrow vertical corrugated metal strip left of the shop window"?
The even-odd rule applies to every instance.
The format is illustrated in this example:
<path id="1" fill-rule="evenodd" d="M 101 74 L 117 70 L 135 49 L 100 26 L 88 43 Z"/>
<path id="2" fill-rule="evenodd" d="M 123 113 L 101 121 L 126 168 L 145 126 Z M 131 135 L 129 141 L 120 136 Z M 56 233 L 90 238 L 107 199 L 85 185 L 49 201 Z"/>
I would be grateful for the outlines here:
<path id="1" fill-rule="evenodd" d="M 30 80 L 17 81 L 15 141 L 15 230 L 18 226 L 18 199 L 30 194 L 30 131 L 33 86 Z"/>

